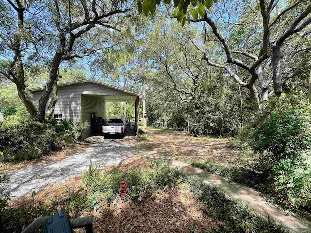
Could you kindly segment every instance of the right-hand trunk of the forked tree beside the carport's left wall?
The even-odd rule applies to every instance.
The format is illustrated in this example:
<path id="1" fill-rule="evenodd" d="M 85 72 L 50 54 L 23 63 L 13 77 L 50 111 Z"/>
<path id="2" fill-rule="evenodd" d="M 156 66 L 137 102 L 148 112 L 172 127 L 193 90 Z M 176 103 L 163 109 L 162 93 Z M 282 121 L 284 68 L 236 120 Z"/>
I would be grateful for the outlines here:
<path id="1" fill-rule="evenodd" d="M 62 61 L 61 53 L 56 52 L 56 54 L 53 58 L 53 61 L 52 61 L 49 79 L 45 85 L 45 88 L 43 89 L 42 96 L 39 100 L 39 108 L 38 108 L 39 118 L 38 118 L 38 120 L 40 122 L 43 122 L 45 120 L 46 105 L 47 105 L 47 102 L 49 100 L 50 93 L 52 91 L 53 85 L 58 78 L 58 69 L 59 69 L 59 65 L 60 65 L 61 61 Z M 55 106 L 56 102 L 57 102 L 57 100 L 53 102 L 54 106 Z"/>

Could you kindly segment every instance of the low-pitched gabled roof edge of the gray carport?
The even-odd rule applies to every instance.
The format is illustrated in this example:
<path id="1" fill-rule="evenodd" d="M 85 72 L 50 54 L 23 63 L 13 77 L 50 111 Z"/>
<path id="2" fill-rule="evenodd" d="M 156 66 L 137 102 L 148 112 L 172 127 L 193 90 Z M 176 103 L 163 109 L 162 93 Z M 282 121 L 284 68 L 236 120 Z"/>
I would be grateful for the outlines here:
<path id="1" fill-rule="evenodd" d="M 133 102 L 133 100 L 135 101 L 136 97 L 139 98 L 139 100 L 141 100 L 143 98 L 142 95 L 135 93 L 135 92 L 131 92 L 125 89 L 122 89 L 120 87 L 116 87 L 113 85 L 109 85 L 107 83 L 102 83 L 99 81 L 95 81 L 95 80 L 91 80 L 91 79 L 84 79 L 84 80 L 79 80 L 79 81 L 74 81 L 74 82 L 68 82 L 68 83 L 59 83 L 57 84 L 57 87 L 63 87 L 63 86 L 70 86 L 70 85 L 74 85 L 74 84 L 80 84 L 80 83 L 95 83 L 98 85 L 102 85 L 104 87 L 108 87 L 114 90 L 118 90 L 124 93 L 124 95 L 120 94 L 120 95 L 107 95 L 107 96 L 102 96 L 102 98 L 105 101 L 108 102 Z M 31 89 L 27 89 L 27 91 L 29 92 L 36 92 L 36 91 L 42 91 L 44 89 L 45 86 L 40 86 L 40 87 L 36 87 L 36 88 L 31 88 Z M 84 93 L 84 94 L 88 94 L 88 93 Z"/>

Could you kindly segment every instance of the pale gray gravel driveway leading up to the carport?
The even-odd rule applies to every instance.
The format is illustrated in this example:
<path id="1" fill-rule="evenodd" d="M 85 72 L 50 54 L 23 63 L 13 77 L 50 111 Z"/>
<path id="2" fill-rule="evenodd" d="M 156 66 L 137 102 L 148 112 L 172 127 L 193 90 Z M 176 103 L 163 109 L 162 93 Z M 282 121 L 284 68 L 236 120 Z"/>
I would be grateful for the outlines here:
<path id="1" fill-rule="evenodd" d="M 53 183 L 66 181 L 70 176 L 86 171 L 91 157 L 93 164 L 101 163 L 104 159 L 102 166 L 118 164 L 128 158 L 132 149 L 130 146 L 115 143 L 115 140 L 101 140 L 91 144 L 91 148 L 85 152 L 70 155 L 48 165 L 14 171 L 8 175 L 9 183 L 5 192 L 15 198 L 44 189 Z"/>

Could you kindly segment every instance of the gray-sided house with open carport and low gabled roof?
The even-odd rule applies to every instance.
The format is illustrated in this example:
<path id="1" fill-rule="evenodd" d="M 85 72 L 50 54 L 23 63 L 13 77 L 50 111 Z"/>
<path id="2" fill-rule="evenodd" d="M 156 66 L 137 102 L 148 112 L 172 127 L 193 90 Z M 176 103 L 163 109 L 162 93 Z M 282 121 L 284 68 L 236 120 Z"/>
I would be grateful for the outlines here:
<path id="1" fill-rule="evenodd" d="M 28 89 L 33 95 L 36 108 L 38 108 L 43 88 Z M 92 113 L 105 119 L 106 102 L 128 102 L 135 103 L 135 122 L 138 129 L 138 104 L 143 96 L 137 93 L 90 79 L 60 83 L 57 89 L 58 101 L 52 115 L 55 119 L 70 118 L 75 122 L 91 122 Z M 51 96 L 46 108 L 48 108 L 50 100 Z M 83 138 L 90 135 L 91 127 L 83 135 Z"/>

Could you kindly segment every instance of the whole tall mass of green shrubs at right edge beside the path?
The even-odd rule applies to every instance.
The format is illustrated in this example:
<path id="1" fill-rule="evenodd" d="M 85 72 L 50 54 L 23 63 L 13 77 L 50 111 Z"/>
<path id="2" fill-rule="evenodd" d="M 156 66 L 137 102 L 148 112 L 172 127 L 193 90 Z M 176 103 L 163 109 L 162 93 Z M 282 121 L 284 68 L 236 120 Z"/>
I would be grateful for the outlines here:
<path id="1" fill-rule="evenodd" d="M 273 188 L 296 205 L 311 208 L 311 106 L 297 95 L 272 100 L 249 136 L 258 165 Z"/>

